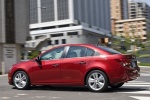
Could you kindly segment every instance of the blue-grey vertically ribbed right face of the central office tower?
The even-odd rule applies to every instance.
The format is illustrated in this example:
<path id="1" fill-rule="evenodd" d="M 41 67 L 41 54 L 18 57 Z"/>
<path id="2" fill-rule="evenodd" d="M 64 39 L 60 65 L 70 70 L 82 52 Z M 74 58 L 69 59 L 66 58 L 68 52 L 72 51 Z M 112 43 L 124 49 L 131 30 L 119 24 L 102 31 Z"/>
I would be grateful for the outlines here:
<path id="1" fill-rule="evenodd" d="M 110 0 L 73 0 L 74 19 L 111 31 Z"/>

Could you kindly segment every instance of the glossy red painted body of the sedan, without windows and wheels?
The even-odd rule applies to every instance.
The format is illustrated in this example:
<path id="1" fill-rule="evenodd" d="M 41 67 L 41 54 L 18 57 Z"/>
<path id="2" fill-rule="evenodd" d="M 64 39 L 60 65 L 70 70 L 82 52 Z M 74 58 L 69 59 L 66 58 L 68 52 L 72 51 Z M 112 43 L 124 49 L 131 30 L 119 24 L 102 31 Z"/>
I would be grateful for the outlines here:
<path id="1" fill-rule="evenodd" d="M 94 55 L 67 58 L 71 46 L 90 48 Z M 85 85 L 87 74 L 92 70 L 103 71 L 109 84 L 117 84 L 137 79 L 140 68 L 133 55 L 112 54 L 108 51 L 89 44 L 68 44 L 55 48 L 65 47 L 62 56 L 58 59 L 41 60 L 41 65 L 35 59 L 20 62 L 12 66 L 8 73 L 8 82 L 13 85 L 12 79 L 16 71 L 22 70 L 30 78 L 31 85 Z M 49 51 L 54 50 L 52 48 Z M 44 53 L 44 54 L 45 54 Z M 59 55 L 59 51 L 57 52 Z M 41 54 L 40 57 L 42 57 Z M 57 55 L 57 56 L 58 56 Z M 77 51 L 77 55 L 79 55 Z"/>

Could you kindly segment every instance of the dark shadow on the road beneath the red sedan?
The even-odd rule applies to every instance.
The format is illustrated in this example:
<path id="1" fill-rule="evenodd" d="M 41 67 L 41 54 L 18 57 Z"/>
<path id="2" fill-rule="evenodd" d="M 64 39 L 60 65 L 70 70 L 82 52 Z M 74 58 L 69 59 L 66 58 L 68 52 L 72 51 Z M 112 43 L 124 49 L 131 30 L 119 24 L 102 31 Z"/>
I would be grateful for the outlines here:
<path id="1" fill-rule="evenodd" d="M 13 87 L 13 89 L 16 89 Z M 91 92 L 87 87 L 70 87 L 70 86 L 31 86 L 29 90 L 38 91 L 69 91 L 69 92 Z M 116 93 L 116 92 L 136 92 L 146 91 L 148 88 L 142 87 L 121 87 L 118 89 L 108 88 L 107 91 L 102 93 Z"/>

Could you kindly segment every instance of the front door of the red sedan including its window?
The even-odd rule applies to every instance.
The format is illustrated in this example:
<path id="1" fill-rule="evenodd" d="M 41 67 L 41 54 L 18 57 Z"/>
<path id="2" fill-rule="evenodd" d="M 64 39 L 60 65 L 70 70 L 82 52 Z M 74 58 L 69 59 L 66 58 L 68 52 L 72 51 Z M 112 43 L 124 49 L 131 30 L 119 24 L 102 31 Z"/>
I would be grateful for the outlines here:
<path id="1" fill-rule="evenodd" d="M 60 67 L 64 47 L 52 49 L 41 55 L 41 66 L 33 67 L 33 83 L 60 83 Z"/>

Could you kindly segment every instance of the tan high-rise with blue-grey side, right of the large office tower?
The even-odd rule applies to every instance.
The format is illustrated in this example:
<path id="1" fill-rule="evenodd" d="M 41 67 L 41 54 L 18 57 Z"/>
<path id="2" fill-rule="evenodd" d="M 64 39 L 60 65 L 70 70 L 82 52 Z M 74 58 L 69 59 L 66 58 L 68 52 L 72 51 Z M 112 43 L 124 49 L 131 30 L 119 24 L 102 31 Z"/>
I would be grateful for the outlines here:
<path id="1" fill-rule="evenodd" d="M 110 0 L 111 6 L 111 31 L 115 31 L 115 22 L 117 20 L 128 19 L 128 0 Z"/>

